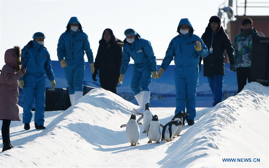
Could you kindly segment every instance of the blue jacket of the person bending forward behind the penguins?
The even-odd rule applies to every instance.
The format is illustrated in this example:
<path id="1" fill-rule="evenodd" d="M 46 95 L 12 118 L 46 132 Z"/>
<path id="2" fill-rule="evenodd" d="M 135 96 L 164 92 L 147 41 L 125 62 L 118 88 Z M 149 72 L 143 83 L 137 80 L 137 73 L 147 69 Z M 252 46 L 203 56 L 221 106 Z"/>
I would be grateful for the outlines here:
<path id="1" fill-rule="evenodd" d="M 135 41 L 131 45 L 127 42 L 126 38 L 123 43 L 121 74 L 125 74 L 127 71 L 130 57 L 132 57 L 134 65 L 139 69 L 150 68 L 151 71 L 157 71 L 156 57 L 148 40 L 140 38 L 140 35 L 137 33 Z"/>

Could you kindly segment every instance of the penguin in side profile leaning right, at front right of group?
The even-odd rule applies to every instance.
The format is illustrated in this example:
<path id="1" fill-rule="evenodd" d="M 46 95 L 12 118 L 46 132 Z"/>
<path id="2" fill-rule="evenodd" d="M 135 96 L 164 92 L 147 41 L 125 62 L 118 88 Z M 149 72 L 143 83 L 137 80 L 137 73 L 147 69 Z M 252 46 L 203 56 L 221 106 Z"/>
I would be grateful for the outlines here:
<path id="1" fill-rule="evenodd" d="M 171 141 L 179 125 L 182 126 L 181 121 L 170 121 L 165 124 L 162 129 L 162 140 Z"/>

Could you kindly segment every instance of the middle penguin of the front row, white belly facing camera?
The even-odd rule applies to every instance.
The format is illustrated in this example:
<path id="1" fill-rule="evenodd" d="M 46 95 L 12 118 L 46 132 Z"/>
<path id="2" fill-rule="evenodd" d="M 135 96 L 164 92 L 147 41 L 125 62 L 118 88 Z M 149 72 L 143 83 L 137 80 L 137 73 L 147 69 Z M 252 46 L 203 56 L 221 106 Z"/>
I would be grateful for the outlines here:
<path id="1" fill-rule="evenodd" d="M 156 143 L 159 143 L 161 139 L 160 122 L 157 115 L 154 115 L 150 122 L 148 129 L 148 139 L 148 143 L 151 143 L 152 141 L 156 141 Z"/>

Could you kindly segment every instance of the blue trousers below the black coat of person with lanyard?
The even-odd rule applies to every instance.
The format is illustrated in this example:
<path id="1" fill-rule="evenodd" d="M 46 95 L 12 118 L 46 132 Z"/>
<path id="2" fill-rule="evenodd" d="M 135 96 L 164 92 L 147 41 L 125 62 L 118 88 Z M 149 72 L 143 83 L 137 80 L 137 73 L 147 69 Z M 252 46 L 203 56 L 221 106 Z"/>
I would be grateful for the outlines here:
<path id="1" fill-rule="evenodd" d="M 207 79 L 214 98 L 212 105 L 216 106 L 218 103 L 222 102 L 223 75 L 212 75 L 211 77 L 207 77 Z"/>

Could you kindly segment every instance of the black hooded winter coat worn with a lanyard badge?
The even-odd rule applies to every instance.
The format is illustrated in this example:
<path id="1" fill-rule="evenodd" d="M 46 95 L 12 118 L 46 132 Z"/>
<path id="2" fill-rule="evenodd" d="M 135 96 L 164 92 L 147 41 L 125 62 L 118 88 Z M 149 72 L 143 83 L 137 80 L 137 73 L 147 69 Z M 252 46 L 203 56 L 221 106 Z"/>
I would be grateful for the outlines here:
<path id="1" fill-rule="evenodd" d="M 202 38 L 203 42 L 206 44 L 206 47 L 211 48 L 211 40 L 212 40 L 212 29 L 210 23 L 208 24 L 205 33 L 203 33 Z M 213 74 L 215 75 L 225 75 L 225 67 L 224 67 L 224 50 L 226 49 L 230 64 L 234 65 L 234 54 L 232 43 L 221 27 L 216 35 L 213 37 L 212 43 L 213 53 L 209 53 L 207 57 L 200 57 L 199 65 L 203 59 L 203 76 L 210 77 Z"/>

